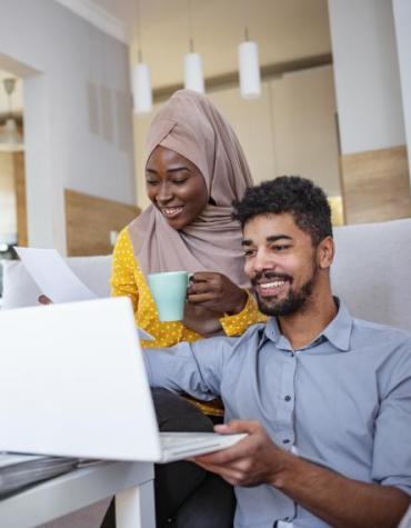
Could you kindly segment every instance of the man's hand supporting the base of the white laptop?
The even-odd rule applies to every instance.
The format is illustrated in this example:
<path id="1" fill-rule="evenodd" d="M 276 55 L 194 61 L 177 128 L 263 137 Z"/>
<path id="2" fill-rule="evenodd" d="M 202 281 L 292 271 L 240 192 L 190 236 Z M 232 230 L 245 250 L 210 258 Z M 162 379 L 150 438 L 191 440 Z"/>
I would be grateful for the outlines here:
<path id="1" fill-rule="evenodd" d="M 272 484 L 283 462 L 290 457 L 278 448 L 258 421 L 233 420 L 215 426 L 215 432 L 248 432 L 248 437 L 234 446 L 210 455 L 194 457 L 193 462 L 208 471 L 220 475 L 233 486 L 259 486 Z"/>

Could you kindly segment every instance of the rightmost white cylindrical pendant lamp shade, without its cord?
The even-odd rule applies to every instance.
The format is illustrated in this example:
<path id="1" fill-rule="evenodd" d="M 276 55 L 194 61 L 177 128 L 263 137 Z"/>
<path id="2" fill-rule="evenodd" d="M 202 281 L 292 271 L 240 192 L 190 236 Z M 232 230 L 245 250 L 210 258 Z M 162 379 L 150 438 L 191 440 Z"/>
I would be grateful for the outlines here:
<path id="1" fill-rule="evenodd" d="M 259 48 L 247 41 L 239 46 L 240 92 L 244 99 L 254 99 L 261 93 Z"/>

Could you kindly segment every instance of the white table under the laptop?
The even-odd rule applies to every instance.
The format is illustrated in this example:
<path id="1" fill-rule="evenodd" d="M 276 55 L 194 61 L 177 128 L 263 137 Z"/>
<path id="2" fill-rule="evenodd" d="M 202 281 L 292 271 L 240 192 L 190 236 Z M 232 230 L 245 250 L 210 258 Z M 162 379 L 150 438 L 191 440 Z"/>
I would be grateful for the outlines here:
<path id="1" fill-rule="evenodd" d="M 116 495 L 118 528 L 154 528 L 150 462 L 100 462 L 0 500 L 1 528 L 31 528 Z"/>

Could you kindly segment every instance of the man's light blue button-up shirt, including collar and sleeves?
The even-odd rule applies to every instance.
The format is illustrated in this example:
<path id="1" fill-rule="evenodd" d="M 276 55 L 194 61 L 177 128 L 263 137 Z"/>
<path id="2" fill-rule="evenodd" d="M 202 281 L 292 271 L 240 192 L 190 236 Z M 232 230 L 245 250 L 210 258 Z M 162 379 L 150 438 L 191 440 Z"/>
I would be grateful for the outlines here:
<path id="1" fill-rule="evenodd" d="M 283 449 L 364 482 L 411 495 L 411 336 L 337 317 L 293 350 L 277 320 L 240 338 L 218 337 L 146 349 L 153 387 L 200 399 L 221 396 L 225 421 L 258 420 Z M 328 526 L 270 486 L 235 489 L 237 528 Z"/>

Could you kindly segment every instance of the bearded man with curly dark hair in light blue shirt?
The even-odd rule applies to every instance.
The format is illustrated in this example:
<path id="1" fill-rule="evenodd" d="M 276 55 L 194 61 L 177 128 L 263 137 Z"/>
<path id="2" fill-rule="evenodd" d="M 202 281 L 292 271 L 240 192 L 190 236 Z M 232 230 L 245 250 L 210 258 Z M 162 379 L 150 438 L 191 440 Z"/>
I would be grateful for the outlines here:
<path id="1" fill-rule="evenodd" d="M 395 527 L 411 495 L 411 337 L 332 296 L 330 208 L 311 181 L 250 188 L 234 210 L 269 322 L 148 350 L 151 385 L 220 396 L 215 429 L 249 434 L 193 459 L 235 486 L 237 527 Z"/>

